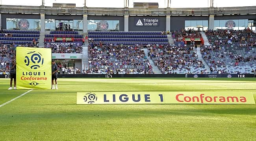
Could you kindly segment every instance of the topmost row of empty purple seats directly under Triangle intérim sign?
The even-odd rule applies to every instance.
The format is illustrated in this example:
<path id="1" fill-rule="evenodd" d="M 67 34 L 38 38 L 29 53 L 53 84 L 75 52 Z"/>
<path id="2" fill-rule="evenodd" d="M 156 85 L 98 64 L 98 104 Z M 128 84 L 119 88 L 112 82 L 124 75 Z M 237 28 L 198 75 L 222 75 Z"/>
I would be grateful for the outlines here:
<path id="1" fill-rule="evenodd" d="M 88 34 L 161 35 L 161 32 L 89 31 Z"/>

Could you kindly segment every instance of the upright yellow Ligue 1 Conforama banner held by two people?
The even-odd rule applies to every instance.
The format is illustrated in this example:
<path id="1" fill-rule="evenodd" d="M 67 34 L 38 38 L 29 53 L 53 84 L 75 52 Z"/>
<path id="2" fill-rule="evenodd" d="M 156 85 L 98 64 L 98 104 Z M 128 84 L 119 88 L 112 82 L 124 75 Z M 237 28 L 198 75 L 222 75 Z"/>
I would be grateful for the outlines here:
<path id="1" fill-rule="evenodd" d="M 16 63 L 17 89 L 52 88 L 51 49 L 17 47 Z"/>

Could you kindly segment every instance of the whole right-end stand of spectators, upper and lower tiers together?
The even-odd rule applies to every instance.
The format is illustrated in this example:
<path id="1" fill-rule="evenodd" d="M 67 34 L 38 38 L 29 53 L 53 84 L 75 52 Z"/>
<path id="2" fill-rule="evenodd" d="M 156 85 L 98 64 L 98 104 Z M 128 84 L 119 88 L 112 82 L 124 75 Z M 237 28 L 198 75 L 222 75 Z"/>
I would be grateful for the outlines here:
<path id="1" fill-rule="evenodd" d="M 244 30 L 206 31 L 210 46 L 202 47 L 204 60 L 213 74 L 252 73 L 256 61 L 256 34 Z"/>

